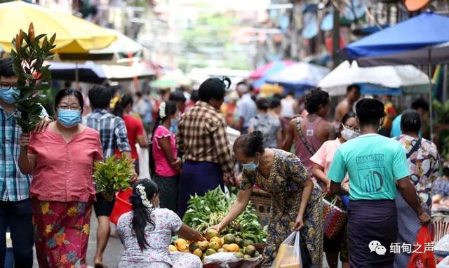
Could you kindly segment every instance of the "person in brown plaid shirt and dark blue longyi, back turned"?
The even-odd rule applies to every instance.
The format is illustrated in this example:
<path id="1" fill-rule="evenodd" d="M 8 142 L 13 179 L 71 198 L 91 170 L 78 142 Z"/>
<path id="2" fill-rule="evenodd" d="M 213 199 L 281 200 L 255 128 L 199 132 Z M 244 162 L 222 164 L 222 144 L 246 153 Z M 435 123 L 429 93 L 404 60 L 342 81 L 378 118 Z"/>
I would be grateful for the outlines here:
<path id="1" fill-rule="evenodd" d="M 177 149 L 185 156 L 180 180 L 178 215 L 187 200 L 203 195 L 223 181 L 234 185 L 234 162 L 226 135 L 225 118 L 217 111 L 225 100 L 229 79 L 207 79 L 199 87 L 199 102 L 181 116 L 176 135 Z"/>

